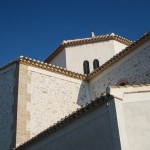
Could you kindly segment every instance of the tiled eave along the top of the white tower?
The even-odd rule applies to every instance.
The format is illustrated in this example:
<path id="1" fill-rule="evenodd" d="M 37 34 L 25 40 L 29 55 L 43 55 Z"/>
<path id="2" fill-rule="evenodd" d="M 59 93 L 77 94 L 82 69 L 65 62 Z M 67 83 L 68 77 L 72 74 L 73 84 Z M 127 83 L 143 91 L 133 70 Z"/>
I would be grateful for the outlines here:
<path id="1" fill-rule="evenodd" d="M 89 44 L 89 43 L 96 43 L 96 42 L 101 42 L 101 41 L 109 41 L 109 40 L 116 40 L 120 43 L 123 43 L 127 46 L 129 46 L 132 41 L 125 39 L 119 35 L 115 35 L 115 34 L 105 34 L 105 35 L 101 35 L 101 36 L 95 36 L 95 37 L 91 37 L 91 38 L 83 38 L 83 39 L 76 39 L 76 40 L 67 40 L 67 41 L 63 41 L 62 44 L 59 45 L 58 48 L 56 48 L 56 50 L 50 55 L 48 56 L 44 62 L 49 63 L 54 57 L 56 57 L 65 47 L 68 46 L 76 46 L 76 45 L 80 45 L 80 44 Z"/>

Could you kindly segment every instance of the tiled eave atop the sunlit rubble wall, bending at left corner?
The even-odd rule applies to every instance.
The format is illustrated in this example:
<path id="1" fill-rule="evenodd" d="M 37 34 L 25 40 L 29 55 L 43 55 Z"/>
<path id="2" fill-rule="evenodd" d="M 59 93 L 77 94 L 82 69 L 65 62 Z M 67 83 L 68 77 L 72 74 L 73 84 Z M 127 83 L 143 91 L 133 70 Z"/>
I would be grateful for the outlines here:
<path id="1" fill-rule="evenodd" d="M 76 73 L 76 72 L 67 70 L 66 68 L 62 68 L 62 67 L 59 67 L 59 66 L 47 64 L 47 63 L 44 63 L 44 62 L 41 62 L 41 61 L 38 61 L 38 60 L 35 60 L 35 59 L 31 59 L 31 58 L 28 58 L 28 57 L 24 57 L 24 56 L 20 56 L 16 60 L 11 61 L 8 64 L 5 64 L 4 66 L 0 67 L 0 70 L 3 70 L 4 68 L 6 68 L 8 66 L 11 66 L 12 64 L 15 64 L 15 63 L 24 64 L 24 65 L 27 65 L 27 66 L 33 66 L 33 67 L 36 67 L 36 68 L 51 71 L 51 72 L 61 74 L 61 75 L 64 75 L 64 76 L 68 76 L 68 77 L 78 79 L 78 80 L 84 80 L 86 78 L 86 75 L 83 75 L 81 73 Z"/>

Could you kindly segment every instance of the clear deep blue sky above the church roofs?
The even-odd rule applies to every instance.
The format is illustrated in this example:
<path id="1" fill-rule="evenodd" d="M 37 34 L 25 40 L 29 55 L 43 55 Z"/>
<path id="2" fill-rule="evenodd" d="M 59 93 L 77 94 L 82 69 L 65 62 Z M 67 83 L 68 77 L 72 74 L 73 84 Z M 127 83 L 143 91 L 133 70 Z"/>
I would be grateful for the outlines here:
<path id="1" fill-rule="evenodd" d="M 150 31 L 150 0 L 0 0 L 0 66 L 20 55 L 45 59 L 68 39 Z"/>

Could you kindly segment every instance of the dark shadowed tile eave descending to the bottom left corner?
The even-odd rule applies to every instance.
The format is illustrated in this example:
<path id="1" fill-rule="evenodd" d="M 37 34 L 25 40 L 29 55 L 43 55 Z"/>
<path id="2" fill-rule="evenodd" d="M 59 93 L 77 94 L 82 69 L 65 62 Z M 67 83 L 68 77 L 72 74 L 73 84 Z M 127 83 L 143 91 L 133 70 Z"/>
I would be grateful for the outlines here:
<path id="1" fill-rule="evenodd" d="M 43 138 L 54 134 L 58 130 L 62 129 L 63 127 L 67 126 L 70 123 L 73 123 L 75 120 L 79 119 L 83 115 L 89 113 L 90 111 L 98 108 L 99 106 L 107 103 L 108 101 L 112 100 L 114 97 L 110 94 L 106 94 L 105 96 L 101 96 L 99 98 L 96 98 L 95 100 L 92 100 L 89 104 L 86 104 L 82 106 L 81 108 L 74 111 L 72 114 L 66 116 L 65 118 L 58 121 L 56 124 L 50 126 L 46 130 L 42 131 L 35 137 L 31 138 L 30 140 L 22 143 L 18 147 L 14 148 L 14 150 L 24 150 L 25 148 L 33 145 L 34 143 L 38 142 L 39 140 L 42 140 Z"/>

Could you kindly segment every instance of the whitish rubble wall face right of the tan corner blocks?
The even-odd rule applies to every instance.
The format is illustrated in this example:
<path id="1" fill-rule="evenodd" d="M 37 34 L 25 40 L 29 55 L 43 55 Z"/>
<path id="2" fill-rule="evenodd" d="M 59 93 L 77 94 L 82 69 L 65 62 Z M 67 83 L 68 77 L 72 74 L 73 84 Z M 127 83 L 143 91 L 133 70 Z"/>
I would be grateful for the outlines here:
<path id="1" fill-rule="evenodd" d="M 27 130 L 31 137 L 90 100 L 85 82 L 34 67 L 28 67 L 28 75 L 31 83 L 27 92 L 31 99 L 27 104 Z"/>

